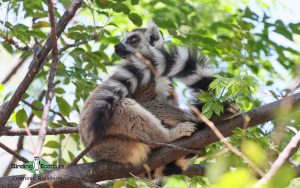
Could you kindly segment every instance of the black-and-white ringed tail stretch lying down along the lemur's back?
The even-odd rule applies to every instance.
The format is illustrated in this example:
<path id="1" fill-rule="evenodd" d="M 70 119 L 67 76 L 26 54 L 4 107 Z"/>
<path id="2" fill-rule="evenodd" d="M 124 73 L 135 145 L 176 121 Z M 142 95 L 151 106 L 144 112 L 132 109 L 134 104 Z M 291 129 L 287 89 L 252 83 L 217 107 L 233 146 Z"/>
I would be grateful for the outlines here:
<path id="1" fill-rule="evenodd" d="M 91 108 L 89 128 L 97 137 L 105 134 L 106 126 L 115 102 L 130 97 L 141 85 L 147 85 L 154 79 L 149 68 L 138 59 L 132 59 L 121 66 L 111 77 L 104 81 L 90 97 L 96 99 Z"/>

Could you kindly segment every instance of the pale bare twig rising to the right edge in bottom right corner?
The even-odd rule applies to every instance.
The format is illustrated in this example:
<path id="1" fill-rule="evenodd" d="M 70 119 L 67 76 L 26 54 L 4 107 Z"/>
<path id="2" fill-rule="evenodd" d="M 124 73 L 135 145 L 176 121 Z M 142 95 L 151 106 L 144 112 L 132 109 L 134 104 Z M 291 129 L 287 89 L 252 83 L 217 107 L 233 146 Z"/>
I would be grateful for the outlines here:
<path id="1" fill-rule="evenodd" d="M 272 164 L 269 171 L 257 182 L 255 187 L 262 187 L 266 184 L 279 170 L 279 168 L 299 149 L 300 146 L 300 131 L 291 139 L 288 145 L 280 153 L 276 161 Z"/>

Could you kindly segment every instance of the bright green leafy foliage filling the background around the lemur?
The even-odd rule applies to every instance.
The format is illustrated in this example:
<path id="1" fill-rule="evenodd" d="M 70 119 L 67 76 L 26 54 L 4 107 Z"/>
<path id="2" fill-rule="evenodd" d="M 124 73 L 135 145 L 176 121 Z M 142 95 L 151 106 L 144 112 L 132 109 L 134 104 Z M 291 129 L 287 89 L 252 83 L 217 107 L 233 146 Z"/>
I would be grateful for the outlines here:
<path id="1" fill-rule="evenodd" d="M 300 23 L 274 20 L 267 13 L 259 15 L 245 7 L 247 1 L 240 1 L 240 4 L 241 7 L 238 7 L 230 0 L 84 0 L 83 8 L 58 40 L 60 65 L 54 90 L 55 102 L 51 108 L 59 111 L 65 119 L 51 114 L 48 120 L 50 126 L 64 127 L 70 126 L 70 123 L 76 126 L 83 101 L 89 92 L 112 71 L 112 65 L 120 62 L 113 53 L 113 45 L 120 41 L 123 31 L 146 25 L 150 19 L 158 24 L 170 42 L 198 48 L 216 68 L 218 74 L 210 84 L 210 91 L 199 96 L 199 100 L 205 103 L 202 111 L 207 117 L 214 113 L 220 115 L 226 100 L 236 101 L 245 111 L 266 103 L 265 98 L 274 96 L 277 99 L 282 93 L 288 93 L 285 83 L 299 76 L 296 71 L 299 52 L 296 48 L 273 40 L 272 35 L 277 34 L 287 43 L 294 44 L 300 34 Z M 69 0 L 58 1 L 55 10 L 57 19 L 69 5 Z M 29 54 L 33 58 L 34 50 L 20 50 L 9 41 L 14 40 L 19 47 L 41 48 L 50 30 L 47 1 L 3 0 L 0 7 L 5 12 L 4 17 L 1 15 L 3 19 L 0 19 L 0 38 L 5 41 L 0 44 L 0 53 L 20 57 Z M 34 122 L 26 124 L 31 113 L 41 118 L 42 112 L 38 109 L 43 108 L 44 102 L 38 100 L 37 96 L 46 89 L 49 67 L 50 61 L 47 59 L 26 96 L 23 96 L 36 109 L 21 103 L 10 119 L 12 125 L 34 127 Z M 7 100 L 13 89 L 0 85 L 0 98 Z M 267 96 L 262 89 L 271 94 Z M 275 121 L 247 131 L 235 130 L 229 140 L 257 166 L 267 169 L 270 162 L 267 154 L 272 149 L 278 154 L 286 146 L 295 134 L 291 130 L 300 127 L 299 117 L 298 110 L 283 121 L 290 129 L 284 132 L 280 146 L 273 145 L 274 129 L 280 126 Z M 54 164 L 69 163 L 83 149 L 78 134 L 48 137 L 44 146 L 43 156 Z M 208 165 L 207 176 L 174 176 L 167 179 L 165 186 L 253 186 L 257 180 L 250 168 L 230 152 L 218 156 L 217 153 L 223 150 L 224 145 L 217 142 L 206 148 L 205 160 L 195 159 L 196 163 Z M 299 151 L 293 159 L 300 161 Z M 90 159 L 85 157 L 83 161 Z M 288 185 L 293 178 L 291 167 L 284 166 L 276 177 L 279 176 L 266 187 Z M 278 182 L 278 179 L 284 181 Z M 299 178 L 294 179 L 290 186 L 298 184 Z M 148 185 L 135 179 L 113 183 L 116 188 L 124 186 Z"/>

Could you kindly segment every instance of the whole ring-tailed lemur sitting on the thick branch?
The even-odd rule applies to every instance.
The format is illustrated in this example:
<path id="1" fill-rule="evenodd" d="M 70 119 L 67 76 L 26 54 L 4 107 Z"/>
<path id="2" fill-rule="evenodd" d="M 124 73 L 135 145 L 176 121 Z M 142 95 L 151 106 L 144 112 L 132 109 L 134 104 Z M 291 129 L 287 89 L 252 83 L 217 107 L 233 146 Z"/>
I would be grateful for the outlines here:
<path id="1" fill-rule="evenodd" d="M 163 101 L 157 90 L 147 92 L 147 88 L 152 91 L 155 76 L 136 53 L 150 60 L 156 76 L 177 78 L 195 90 L 207 90 L 213 77 L 205 59 L 195 50 L 165 49 L 154 23 L 125 34 L 115 52 L 125 62 L 90 94 L 81 112 L 79 130 L 85 145 L 99 140 L 89 152 L 95 160 L 140 165 L 147 159 L 150 147 L 136 140 L 169 143 L 191 135 L 195 126 L 189 122 L 192 117 Z M 162 123 L 176 126 L 167 129 Z"/>

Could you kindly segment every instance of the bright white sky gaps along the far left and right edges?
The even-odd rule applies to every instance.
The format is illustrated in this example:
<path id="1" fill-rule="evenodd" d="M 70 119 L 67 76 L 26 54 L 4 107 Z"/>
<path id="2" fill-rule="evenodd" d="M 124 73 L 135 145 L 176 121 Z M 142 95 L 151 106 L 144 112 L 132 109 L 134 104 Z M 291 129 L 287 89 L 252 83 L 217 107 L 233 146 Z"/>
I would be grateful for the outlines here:
<path id="1" fill-rule="evenodd" d="M 271 4 L 269 2 L 272 2 L 272 0 L 252 0 L 251 3 L 249 4 L 250 8 L 255 11 L 258 14 L 262 14 L 262 6 L 258 6 L 257 2 L 268 2 L 267 4 Z M 276 1 L 275 6 L 272 6 L 270 11 L 267 11 L 267 14 L 275 21 L 277 19 L 281 19 L 283 20 L 285 23 L 290 23 L 290 22 L 300 22 L 300 0 L 273 0 Z M 283 8 L 284 6 L 284 8 Z M 0 8 L 1 10 L 1 8 Z M 4 17 L 5 12 L 0 11 L 0 19 L 2 19 Z M 0 26 L 1 27 L 1 26 Z M 287 42 L 287 40 L 284 39 L 284 37 L 273 33 L 271 35 L 272 39 L 282 45 L 288 45 L 288 46 L 292 46 L 294 48 L 299 49 L 300 51 L 300 37 L 298 36 L 298 39 L 296 38 L 296 40 L 298 40 L 298 45 L 296 44 L 291 44 L 289 42 Z M 0 49 L 0 80 L 3 80 L 3 78 L 7 75 L 8 71 L 11 70 L 11 68 L 16 64 L 17 62 L 17 56 L 10 56 L 7 52 L 5 52 L 5 50 Z M 29 61 L 27 62 L 27 64 L 25 64 L 21 70 L 17 73 L 16 76 L 13 77 L 13 79 L 9 82 L 8 87 L 9 90 L 14 90 L 18 84 L 21 82 L 21 80 L 23 79 L 23 76 L 26 74 L 27 70 L 28 70 L 28 64 Z M 281 86 L 287 86 L 287 84 L 290 82 L 290 77 L 288 75 L 288 73 L 279 65 L 277 66 L 278 71 L 282 72 L 283 75 L 286 75 L 287 80 L 285 81 L 285 83 L 278 83 L 278 87 Z M 277 87 L 277 86 L 275 86 Z M 8 92 L 6 90 L 6 92 Z M 261 93 L 264 93 L 264 91 L 261 91 Z M 0 93 L 1 95 L 1 93 Z M 273 98 L 269 98 L 268 94 L 266 94 L 266 96 L 264 96 L 266 101 L 271 101 L 274 100 Z M 0 137 L 0 141 L 9 141 L 11 143 L 12 149 L 14 149 L 15 147 L 15 142 L 16 142 L 16 138 L 15 137 Z M 6 142 L 7 143 L 7 142 Z M 32 142 L 30 142 L 32 143 Z M 24 153 L 22 153 L 24 155 Z M 25 156 L 27 156 L 28 154 L 25 154 Z M 6 154 L 3 150 L 0 149 L 0 160 L 2 161 L 1 165 L 0 165 L 0 174 L 3 173 L 3 170 L 6 168 L 6 164 L 5 161 L 9 161 L 11 158 L 11 155 Z M 5 164 L 5 165 L 3 165 Z M 20 172 L 20 171 L 19 171 Z M 13 172 L 13 173 L 18 173 L 18 172 Z"/>

